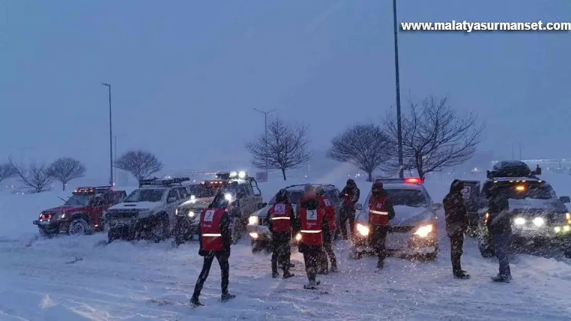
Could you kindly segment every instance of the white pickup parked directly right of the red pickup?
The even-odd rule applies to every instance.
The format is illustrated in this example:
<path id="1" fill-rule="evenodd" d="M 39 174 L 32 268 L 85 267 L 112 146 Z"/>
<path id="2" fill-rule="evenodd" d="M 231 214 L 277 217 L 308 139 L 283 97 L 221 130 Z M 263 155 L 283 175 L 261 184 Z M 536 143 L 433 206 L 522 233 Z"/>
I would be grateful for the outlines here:
<path id="1" fill-rule="evenodd" d="M 143 238 L 159 242 L 167 238 L 175 226 L 176 208 L 190 198 L 180 184 L 188 180 L 184 177 L 139 181 L 138 189 L 103 213 L 108 240 Z"/>

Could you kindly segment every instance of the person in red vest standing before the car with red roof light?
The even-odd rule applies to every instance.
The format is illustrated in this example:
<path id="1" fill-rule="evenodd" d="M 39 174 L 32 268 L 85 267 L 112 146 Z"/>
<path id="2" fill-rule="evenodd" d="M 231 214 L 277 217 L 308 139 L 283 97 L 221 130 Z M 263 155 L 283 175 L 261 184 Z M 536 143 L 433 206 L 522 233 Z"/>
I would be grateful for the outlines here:
<path id="1" fill-rule="evenodd" d="M 379 262 L 377 269 L 383 269 L 387 253 L 385 251 L 385 241 L 389 231 L 389 221 L 395 218 L 395 209 L 388 198 L 388 193 L 384 189 L 383 182 L 376 181 L 371 187 L 371 197 L 369 198 L 369 245 L 375 249 Z"/>

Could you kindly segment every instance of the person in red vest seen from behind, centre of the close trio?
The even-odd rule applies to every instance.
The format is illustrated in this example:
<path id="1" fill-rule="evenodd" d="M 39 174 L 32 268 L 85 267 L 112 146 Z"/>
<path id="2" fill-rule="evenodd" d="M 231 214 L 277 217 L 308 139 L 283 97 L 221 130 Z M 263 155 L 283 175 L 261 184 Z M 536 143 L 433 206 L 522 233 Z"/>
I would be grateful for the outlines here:
<path id="1" fill-rule="evenodd" d="M 329 226 L 325 220 L 325 208 L 320 204 L 315 187 L 305 186 L 305 193 L 297 206 L 297 219 L 300 224 L 301 241 L 298 245 L 300 253 L 303 253 L 305 271 L 307 272 L 308 284 L 304 289 L 317 289 L 319 281 L 316 279 L 319 267 L 319 256 L 323 251 L 323 231 Z"/>

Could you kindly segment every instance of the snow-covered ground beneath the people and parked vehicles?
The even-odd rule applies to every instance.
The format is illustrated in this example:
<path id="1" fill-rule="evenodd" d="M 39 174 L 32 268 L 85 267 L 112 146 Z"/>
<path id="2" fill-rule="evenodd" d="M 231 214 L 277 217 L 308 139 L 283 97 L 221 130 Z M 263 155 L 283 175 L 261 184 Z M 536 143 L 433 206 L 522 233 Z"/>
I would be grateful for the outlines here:
<path id="1" fill-rule="evenodd" d="M 569 195 L 571 177 L 544 178 L 558 194 Z M 449 181 L 433 177 L 427 182 L 436 201 Z M 264 196 L 273 192 L 264 190 Z M 349 261 L 347 245 L 339 242 L 341 271 L 321 277 L 329 292 L 324 295 L 300 290 L 305 282 L 300 254 L 292 255 L 296 277 L 282 281 L 270 277 L 267 255 L 252 255 L 247 243 L 239 244 L 232 247 L 230 261 L 230 290 L 237 298 L 219 303 L 220 271 L 213 265 L 202 295 L 206 306 L 191 308 L 185 303 L 202 265 L 195 243 L 178 249 L 168 242 L 99 246 L 102 234 L 30 242 L 37 234 L 31 221 L 39 210 L 61 202 L 53 195 L 0 196 L 2 321 L 570 319 L 568 262 L 519 255 L 512 265 L 513 282 L 498 285 L 489 279 L 497 273 L 497 262 L 482 259 L 467 239 L 463 263 L 472 279 L 457 281 L 451 277 L 444 235 L 437 261 L 391 258 L 379 274 L 372 271 L 375 259 Z"/>

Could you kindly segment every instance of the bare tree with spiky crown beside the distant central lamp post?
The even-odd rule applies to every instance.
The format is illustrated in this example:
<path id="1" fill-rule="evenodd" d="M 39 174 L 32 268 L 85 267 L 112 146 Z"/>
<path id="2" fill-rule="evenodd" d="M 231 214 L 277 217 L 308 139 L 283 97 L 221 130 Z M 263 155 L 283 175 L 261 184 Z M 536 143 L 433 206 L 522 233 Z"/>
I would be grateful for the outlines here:
<path id="1" fill-rule="evenodd" d="M 252 165 L 260 169 L 279 169 L 284 181 L 286 170 L 299 168 L 311 159 L 307 127 L 289 125 L 276 118 L 268 124 L 268 135 L 261 135 L 246 149 L 252 154 Z"/>

